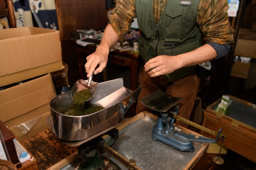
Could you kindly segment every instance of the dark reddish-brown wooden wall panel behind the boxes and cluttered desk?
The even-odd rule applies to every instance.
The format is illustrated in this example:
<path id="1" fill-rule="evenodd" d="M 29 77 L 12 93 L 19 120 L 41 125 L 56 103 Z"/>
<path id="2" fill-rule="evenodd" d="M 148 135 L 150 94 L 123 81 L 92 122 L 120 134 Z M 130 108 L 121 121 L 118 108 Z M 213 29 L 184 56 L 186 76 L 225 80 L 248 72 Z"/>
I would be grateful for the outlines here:
<path id="1" fill-rule="evenodd" d="M 72 87 L 79 78 L 75 42 L 70 42 L 71 32 L 80 29 L 100 30 L 106 27 L 105 0 L 55 0 L 62 46 L 62 60 L 68 64 L 68 81 Z"/>

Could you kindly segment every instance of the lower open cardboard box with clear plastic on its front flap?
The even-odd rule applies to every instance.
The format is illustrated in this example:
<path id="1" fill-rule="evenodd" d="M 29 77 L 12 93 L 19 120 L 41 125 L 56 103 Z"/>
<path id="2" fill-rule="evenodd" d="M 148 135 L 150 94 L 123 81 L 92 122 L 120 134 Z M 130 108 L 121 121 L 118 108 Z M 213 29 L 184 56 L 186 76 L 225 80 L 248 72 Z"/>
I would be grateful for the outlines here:
<path id="1" fill-rule="evenodd" d="M 55 96 L 50 73 L 4 89 L 0 91 L 0 120 L 23 141 L 49 128 L 45 118 L 50 116 L 49 103 Z"/>

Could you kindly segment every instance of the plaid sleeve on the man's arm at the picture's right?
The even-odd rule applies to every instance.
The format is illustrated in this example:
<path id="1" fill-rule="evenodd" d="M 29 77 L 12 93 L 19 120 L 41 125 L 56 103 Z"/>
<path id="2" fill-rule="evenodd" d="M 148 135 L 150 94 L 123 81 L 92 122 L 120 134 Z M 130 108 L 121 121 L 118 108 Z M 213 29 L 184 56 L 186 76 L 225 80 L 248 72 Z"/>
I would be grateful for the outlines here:
<path id="1" fill-rule="evenodd" d="M 234 40 L 234 29 L 228 20 L 228 0 L 201 0 L 197 24 L 206 42 L 230 44 Z"/>

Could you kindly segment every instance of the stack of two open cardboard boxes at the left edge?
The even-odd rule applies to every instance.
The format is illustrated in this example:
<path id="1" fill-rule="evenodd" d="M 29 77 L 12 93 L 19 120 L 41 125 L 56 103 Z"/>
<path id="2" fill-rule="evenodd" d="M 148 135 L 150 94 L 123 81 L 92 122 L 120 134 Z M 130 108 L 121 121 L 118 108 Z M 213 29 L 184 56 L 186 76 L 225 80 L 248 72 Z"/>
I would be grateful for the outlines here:
<path id="1" fill-rule="evenodd" d="M 63 69 L 60 35 L 44 28 L 0 30 L 0 121 L 20 140 L 49 128 L 56 96 L 51 72 Z"/>

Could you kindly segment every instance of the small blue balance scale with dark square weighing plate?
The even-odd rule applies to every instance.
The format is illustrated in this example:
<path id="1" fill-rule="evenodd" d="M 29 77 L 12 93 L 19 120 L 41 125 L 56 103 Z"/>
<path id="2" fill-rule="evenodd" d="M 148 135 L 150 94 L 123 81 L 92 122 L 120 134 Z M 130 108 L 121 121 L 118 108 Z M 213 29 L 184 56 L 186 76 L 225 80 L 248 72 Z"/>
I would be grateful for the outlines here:
<path id="1" fill-rule="evenodd" d="M 160 90 L 141 99 L 142 104 L 158 115 L 157 123 L 152 130 L 153 140 L 159 140 L 182 151 L 194 152 L 193 142 L 216 143 L 220 137 L 225 138 L 225 135 L 221 134 L 222 128 L 215 132 L 178 116 L 179 107 L 176 104 L 181 100 L 182 98 L 172 97 Z M 178 125 L 174 126 L 174 119 L 213 134 L 216 139 L 187 134 Z"/>

